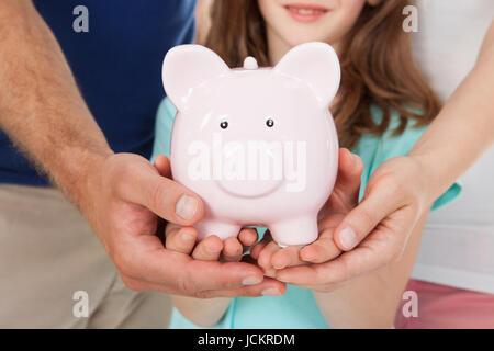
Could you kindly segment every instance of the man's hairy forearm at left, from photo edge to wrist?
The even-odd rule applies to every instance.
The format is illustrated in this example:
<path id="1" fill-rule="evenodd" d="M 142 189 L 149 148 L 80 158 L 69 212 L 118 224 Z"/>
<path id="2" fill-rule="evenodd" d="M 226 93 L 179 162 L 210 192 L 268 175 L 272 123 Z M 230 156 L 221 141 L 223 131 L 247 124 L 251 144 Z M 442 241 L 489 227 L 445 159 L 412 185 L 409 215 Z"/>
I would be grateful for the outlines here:
<path id="1" fill-rule="evenodd" d="M 0 127 L 78 203 L 83 172 L 112 151 L 27 0 L 0 1 Z"/>

